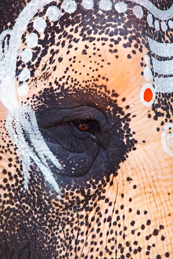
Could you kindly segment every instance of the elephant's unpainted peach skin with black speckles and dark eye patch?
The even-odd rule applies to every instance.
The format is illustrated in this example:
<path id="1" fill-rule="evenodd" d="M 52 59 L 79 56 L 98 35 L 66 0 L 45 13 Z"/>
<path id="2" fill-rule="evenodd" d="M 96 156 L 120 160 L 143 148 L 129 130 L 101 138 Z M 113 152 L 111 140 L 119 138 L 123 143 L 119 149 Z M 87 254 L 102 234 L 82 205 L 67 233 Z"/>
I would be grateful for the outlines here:
<path id="1" fill-rule="evenodd" d="M 31 71 L 30 90 L 18 100 L 32 107 L 46 144 L 63 165 L 59 170 L 49 162 L 61 194 L 34 162 L 23 191 L 20 153 L 1 104 L 0 258 L 172 258 L 172 160 L 160 131 L 172 120 L 173 95 L 157 94 L 151 107 L 139 98 L 147 82 L 144 56 L 151 55 L 147 36 L 170 42 L 172 33 L 148 28 L 147 10 L 138 19 L 130 2 L 122 14 L 101 11 L 97 2 L 85 10 L 76 2 L 77 10 L 55 23 L 45 13 L 61 2 L 34 16 L 45 17 L 47 27 L 38 34 L 32 60 L 25 64 L 19 55 L 16 69 L 16 88 L 20 70 Z M 2 30 L 13 26 L 25 4 L 12 6 L 14 15 L 4 12 Z M 20 53 L 26 35 L 36 32 L 34 18 Z"/>

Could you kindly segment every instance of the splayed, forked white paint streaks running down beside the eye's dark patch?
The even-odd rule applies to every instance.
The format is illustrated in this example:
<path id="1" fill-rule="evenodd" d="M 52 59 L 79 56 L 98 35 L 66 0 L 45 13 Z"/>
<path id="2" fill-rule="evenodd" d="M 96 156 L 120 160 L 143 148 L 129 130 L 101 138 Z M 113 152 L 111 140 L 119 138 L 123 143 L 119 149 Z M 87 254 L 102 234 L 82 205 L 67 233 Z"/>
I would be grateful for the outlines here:
<path id="1" fill-rule="evenodd" d="M 25 112 L 28 113 L 30 121 L 25 118 Z M 12 127 L 13 120 L 15 121 L 17 134 Z M 32 159 L 45 176 L 45 180 L 53 186 L 57 193 L 60 193 L 59 186 L 53 177 L 53 173 L 46 161 L 46 158 L 50 160 L 58 169 L 62 169 L 62 166 L 60 162 L 54 157 L 49 147 L 47 147 L 43 136 L 39 131 L 37 120 L 32 109 L 29 106 L 21 105 L 18 106 L 18 109 L 15 112 L 9 112 L 6 118 L 6 127 L 10 132 L 13 141 L 16 143 L 23 160 L 22 166 L 24 170 L 25 190 L 28 189 L 29 169 Z M 30 138 L 31 146 L 34 148 L 36 153 L 25 141 L 24 132 Z"/>

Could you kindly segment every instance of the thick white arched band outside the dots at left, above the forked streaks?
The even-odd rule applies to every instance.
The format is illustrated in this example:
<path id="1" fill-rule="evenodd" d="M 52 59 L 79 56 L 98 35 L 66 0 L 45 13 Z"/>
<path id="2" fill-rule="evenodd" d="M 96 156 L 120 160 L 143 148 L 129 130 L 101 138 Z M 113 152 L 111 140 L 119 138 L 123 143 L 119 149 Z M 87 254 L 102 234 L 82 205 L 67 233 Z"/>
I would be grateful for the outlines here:
<path id="1" fill-rule="evenodd" d="M 1 102 L 8 109 L 16 109 L 17 95 L 15 91 L 16 63 L 22 35 L 27 24 L 40 8 L 49 4 L 52 0 L 31 0 L 19 14 L 12 30 L 5 30 L 0 34 L 0 48 L 7 34 L 10 34 L 8 52 L 3 56 L 0 52 L 0 82 Z"/>

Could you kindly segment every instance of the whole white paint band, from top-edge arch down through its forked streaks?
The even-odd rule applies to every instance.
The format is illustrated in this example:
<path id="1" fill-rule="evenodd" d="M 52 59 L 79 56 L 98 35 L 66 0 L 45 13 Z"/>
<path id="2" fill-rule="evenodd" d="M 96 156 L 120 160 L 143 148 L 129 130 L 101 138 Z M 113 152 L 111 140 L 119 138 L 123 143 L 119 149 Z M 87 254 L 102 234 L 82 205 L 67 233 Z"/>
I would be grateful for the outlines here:
<path id="1" fill-rule="evenodd" d="M 46 159 L 50 160 L 59 169 L 62 169 L 62 166 L 47 147 L 43 136 L 39 132 L 34 112 L 29 107 L 26 108 L 26 106 L 18 105 L 15 90 L 16 63 L 22 35 L 35 13 L 50 2 L 52 0 L 31 0 L 18 16 L 13 29 L 5 30 L 0 34 L 0 97 L 3 105 L 9 110 L 6 126 L 22 157 L 25 190 L 28 188 L 29 168 L 32 159 L 42 171 L 46 181 L 59 193 L 59 186 L 53 177 Z M 7 34 L 10 34 L 9 46 L 7 46 L 7 39 L 5 39 Z M 4 39 L 5 53 L 3 54 L 2 44 Z M 25 112 L 29 114 L 30 121 L 24 117 Z M 17 134 L 13 129 L 12 120 L 15 120 Z M 29 138 L 31 136 L 30 143 L 37 154 L 25 142 L 24 132 L 28 133 Z"/>

